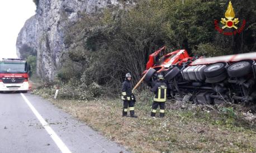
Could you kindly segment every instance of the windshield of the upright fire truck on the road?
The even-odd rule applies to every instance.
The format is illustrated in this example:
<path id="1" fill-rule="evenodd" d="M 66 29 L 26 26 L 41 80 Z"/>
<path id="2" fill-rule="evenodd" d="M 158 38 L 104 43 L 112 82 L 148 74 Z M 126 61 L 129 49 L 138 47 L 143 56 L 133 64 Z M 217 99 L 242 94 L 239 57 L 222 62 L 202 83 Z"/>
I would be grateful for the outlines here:
<path id="1" fill-rule="evenodd" d="M 0 62 L 0 73 L 26 73 L 26 64 Z"/>

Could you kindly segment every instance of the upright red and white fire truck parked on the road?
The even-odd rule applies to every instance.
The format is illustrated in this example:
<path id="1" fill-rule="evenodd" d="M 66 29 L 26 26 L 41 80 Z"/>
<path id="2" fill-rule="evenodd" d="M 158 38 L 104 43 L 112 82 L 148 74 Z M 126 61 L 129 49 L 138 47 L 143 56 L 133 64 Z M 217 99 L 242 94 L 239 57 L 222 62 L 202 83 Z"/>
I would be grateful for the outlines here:
<path id="1" fill-rule="evenodd" d="M 0 92 L 30 90 L 30 66 L 26 61 L 16 58 L 0 60 Z"/>

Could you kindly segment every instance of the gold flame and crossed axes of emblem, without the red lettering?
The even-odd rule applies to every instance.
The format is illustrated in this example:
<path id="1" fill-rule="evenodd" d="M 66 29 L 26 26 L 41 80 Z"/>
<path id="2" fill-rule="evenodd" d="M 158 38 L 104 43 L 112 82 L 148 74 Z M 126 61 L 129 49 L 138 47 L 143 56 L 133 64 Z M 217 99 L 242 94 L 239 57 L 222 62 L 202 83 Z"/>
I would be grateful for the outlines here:
<path id="1" fill-rule="evenodd" d="M 225 26 L 222 27 L 224 28 L 235 28 L 238 29 L 238 27 L 235 26 L 235 24 L 238 24 L 239 20 L 238 18 L 235 18 L 235 11 L 233 9 L 231 1 L 229 1 L 229 6 L 227 7 L 227 11 L 225 13 L 225 17 L 227 18 L 221 18 L 221 23 L 225 24 Z M 233 20 L 234 18 L 234 20 Z"/>

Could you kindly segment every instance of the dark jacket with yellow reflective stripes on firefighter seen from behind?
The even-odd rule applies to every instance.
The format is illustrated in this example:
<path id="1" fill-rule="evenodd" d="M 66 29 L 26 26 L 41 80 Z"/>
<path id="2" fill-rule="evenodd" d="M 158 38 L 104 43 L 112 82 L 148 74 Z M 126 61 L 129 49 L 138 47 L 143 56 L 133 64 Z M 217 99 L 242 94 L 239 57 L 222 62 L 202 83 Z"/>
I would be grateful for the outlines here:
<path id="1" fill-rule="evenodd" d="M 156 102 L 165 102 L 166 101 L 166 92 L 167 85 L 163 81 L 155 83 L 152 91 L 155 93 L 154 101 Z"/>

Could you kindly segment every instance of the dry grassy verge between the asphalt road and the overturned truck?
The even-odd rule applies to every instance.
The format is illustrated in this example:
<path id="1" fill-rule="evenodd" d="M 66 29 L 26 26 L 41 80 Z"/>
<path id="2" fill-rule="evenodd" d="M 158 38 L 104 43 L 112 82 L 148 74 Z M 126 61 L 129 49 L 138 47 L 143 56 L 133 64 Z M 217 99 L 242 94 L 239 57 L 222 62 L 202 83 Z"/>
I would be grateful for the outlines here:
<path id="1" fill-rule="evenodd" d="M 121 117 L 120 100 L 51 101 L 132 152 L 256 151 L 255 124 L 233 116 L 232 109 L 215 112 L 193 106 L 189 110 L 169 101 L 162 119 L 149 116 L 150 102 L 139 102 L 135 105 L 139 118 L 134 119 Z M 172 105 L 177 108 L 168 107 Z"/>

